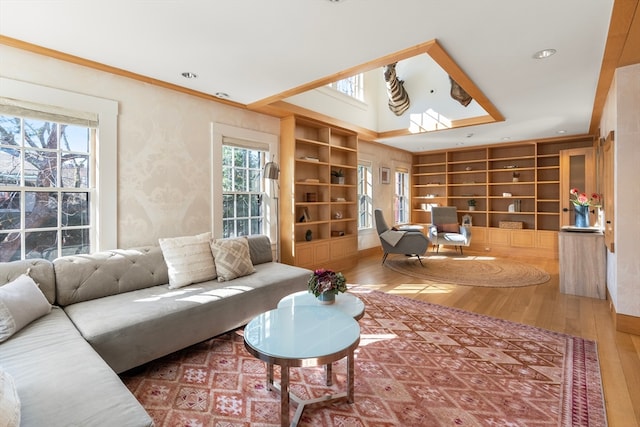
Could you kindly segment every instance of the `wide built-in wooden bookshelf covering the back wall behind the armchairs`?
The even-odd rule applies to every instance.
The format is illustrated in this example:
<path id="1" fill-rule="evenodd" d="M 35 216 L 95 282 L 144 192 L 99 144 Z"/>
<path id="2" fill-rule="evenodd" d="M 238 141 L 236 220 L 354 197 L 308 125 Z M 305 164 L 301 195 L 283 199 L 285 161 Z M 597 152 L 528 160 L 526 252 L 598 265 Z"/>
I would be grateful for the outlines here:
<path id="1" fill-rule="evenodd" d="M 463 215 L 472 218 L 475 249 L 536 248 L 557 256 L 560 154 L 591 146 L 586 136 L 415 154 L 411 222 L 429 224 L 434 204 L 456 206 L 461 223 Z"/>

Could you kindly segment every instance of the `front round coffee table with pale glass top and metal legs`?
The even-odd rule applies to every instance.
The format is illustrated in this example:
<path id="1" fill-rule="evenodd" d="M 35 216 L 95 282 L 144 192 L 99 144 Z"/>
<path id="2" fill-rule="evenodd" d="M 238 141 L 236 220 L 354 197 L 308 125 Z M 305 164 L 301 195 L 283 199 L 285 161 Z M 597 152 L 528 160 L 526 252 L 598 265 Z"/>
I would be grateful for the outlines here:
<path id="1" fill-rule="evenodd" d="M 273 365 L 280 366 L 280 424 L 297 425 L 304 407 L 347 398 L 353 403 L 354 350 L 360 343 L 360 326 L 352 316 L 327 306 L 288 306 L 253 318 L 244 328 L 244 345 L 254 357 L 267 363 L 267 386 L 273 381 Z M 289 391 L 289 368 L 331 364 L 347 358 L 347 391 L 302 400 Z M 330 381 L 328 381 L 330 383 Z M 298 403 L 289 424 L 289 398 Z"/>

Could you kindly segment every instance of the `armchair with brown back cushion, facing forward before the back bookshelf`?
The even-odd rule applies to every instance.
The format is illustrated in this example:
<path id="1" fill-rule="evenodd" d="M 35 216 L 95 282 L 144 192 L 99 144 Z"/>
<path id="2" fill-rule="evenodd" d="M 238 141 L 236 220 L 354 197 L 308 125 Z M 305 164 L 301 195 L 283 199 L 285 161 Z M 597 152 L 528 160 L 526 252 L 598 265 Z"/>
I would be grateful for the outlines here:
<path id="1" fill-rule="evenodd" d="M 440 245 L 455 246 L 456 250 L 471 244 L 471 228 L 458 222 L 458 210 L 455 206 L 437 206 L 431 208 L 429 241 L 440 250 Z"/>

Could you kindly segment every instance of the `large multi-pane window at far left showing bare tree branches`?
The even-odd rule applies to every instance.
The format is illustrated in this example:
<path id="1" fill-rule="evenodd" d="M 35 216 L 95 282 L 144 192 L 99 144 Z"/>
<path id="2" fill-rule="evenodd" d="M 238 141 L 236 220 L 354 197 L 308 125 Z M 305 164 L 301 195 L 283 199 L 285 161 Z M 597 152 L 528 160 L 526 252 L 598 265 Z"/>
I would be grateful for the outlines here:
<path id="1" fill-rule="evenodd" d="M 90 253 L 95 127 L 0 115 L 0 261 Z"/>

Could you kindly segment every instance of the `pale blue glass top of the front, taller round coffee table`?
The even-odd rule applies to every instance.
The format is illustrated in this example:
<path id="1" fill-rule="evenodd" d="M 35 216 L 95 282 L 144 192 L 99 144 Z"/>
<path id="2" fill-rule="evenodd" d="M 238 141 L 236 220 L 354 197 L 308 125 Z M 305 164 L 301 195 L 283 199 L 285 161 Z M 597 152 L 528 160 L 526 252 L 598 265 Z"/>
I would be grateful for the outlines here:
<path id="1" fill-rule="evenodd" d="M 352 316 L 323 305 L 290 305 L 256 316 L 244 328 L 244 340 L 261 355 L 312 359 L 341 352 L 360 339 Z"/>

